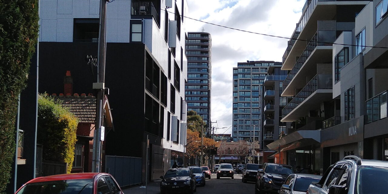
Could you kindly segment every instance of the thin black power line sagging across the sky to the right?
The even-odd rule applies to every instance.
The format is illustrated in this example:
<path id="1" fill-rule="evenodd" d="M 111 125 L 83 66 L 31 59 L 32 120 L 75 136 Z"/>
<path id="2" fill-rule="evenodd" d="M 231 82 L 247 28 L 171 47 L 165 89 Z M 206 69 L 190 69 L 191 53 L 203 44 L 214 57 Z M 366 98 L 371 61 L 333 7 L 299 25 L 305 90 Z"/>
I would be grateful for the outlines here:
<path id="1" fill-rule="evenodd" d="M 161 10 L 164 10 L 164 9 L 161 9 Z M 175 14 L 174 12 L 170 12 L 170 11 L 167 11 L 167 10 L 165 10 L 165 11 L 166 11 L 166 12 L 169 12 L 169 13 L 171 13 L 171 14 Z M 284 36 L 268 35 L 268 34 L 263 34 L 263 33 L 252 32 L 252 31 L 248 31 L 248 30 L 243 30 L 243 29 L 238 29 L 238 28 L 232 28 L 232 27 L 228 27 L 228 26 L 223 26 L 223 25 L 220 25 L 220 24 L 205 22 L 205 21 L 202 21 L 202 20 L 199 20 L 199 19 L 194 19 L 194 18 L 187 17 L 187 16 L 182 16 L 182 15 L 179 15 L 179 16 L 185 17 L 185 18 L 187 18 L 187 19 L 192 19 L 192 20 L 194 20 L 194 21 L 199 21 L 199 22 L 202 22 L 202 23 L 211 24 L 211 25 L 213 25 L 213 26 L 218 26 L 218 27 L 222 27 L 222 28 L 233 29 L 233 30 L 242 31 L 242 32 L 247 32 L 247 33 L 252 33 L 252 34 L 256 34 L 256 35 L 270 36 L 270 37 L 275 37 L 275 38 L 284 38 L 284 39 L 288 39 L 288 40 L 301 40 L 301 41 L 305 41 L 305 42 L 315 42 L 315 43 L 333 44 L 333 45 L 354 46 L 354 47 L 360 46 L 360 45 L 341 44 L 341 43 L 332 43 L 332 42 L 321 42 L 321 41 L 314 41 L 314 40 L 303 40 L 303 39 L 298 39 L 298 38 L 287 38 L 287 37 L 284 37 Z M 388 49 L 388 47 L 376 47 L 376 46 L 362 46 L 362 47 L 379 48 L 379 49 Z"/>

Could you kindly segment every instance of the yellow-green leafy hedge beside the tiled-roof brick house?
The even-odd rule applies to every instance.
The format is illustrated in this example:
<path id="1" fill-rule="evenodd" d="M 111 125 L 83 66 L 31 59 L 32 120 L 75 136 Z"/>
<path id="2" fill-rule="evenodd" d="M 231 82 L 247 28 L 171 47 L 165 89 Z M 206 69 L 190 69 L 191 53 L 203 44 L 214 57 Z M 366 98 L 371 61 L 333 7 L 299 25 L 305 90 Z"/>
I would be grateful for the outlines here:
<path id="1" fill-rule="evenodd" d="M 68 173 L 74 160 L 77 126 L 77 118 L 59 101 L 38 96 L 37 142 L 43 145 L 43 160 L 68 163 Z"/>

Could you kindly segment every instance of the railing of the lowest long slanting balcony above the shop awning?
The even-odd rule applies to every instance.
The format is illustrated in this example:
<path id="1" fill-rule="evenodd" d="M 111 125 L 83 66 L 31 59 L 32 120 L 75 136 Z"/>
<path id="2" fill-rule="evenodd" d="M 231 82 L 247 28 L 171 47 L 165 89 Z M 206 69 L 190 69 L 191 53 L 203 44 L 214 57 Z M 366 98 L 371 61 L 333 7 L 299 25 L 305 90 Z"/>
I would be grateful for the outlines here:
<path id="1" fill-rule="evenodd" d="M 330 81 L 331 80 L 331 81 Z M 306 100 L 311 94 L 318 89 L 332 89 L 333 78 L 331 74 L 317 74 L 312 78 L 306 86 L 295 95 L 295 97 L 289 102 L 284 109 L 282 109 L 282 117 L 287 116 L 293 109 L 299 106 L 304 100 Z"/>

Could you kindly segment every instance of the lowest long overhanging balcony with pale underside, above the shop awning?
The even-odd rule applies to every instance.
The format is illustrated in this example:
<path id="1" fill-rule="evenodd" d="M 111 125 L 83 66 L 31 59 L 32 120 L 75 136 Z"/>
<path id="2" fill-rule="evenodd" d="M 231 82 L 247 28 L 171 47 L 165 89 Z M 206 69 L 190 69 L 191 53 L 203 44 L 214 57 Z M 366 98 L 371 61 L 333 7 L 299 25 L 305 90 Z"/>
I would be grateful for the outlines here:
<path id="1" fill-rule="evenodd" d="M 308 111 L 320 107 L 320 103 L 333 99 L 332 74 L 317 74 L 282 109 L 281 122 L 293 122 L 307 115 Z"/>

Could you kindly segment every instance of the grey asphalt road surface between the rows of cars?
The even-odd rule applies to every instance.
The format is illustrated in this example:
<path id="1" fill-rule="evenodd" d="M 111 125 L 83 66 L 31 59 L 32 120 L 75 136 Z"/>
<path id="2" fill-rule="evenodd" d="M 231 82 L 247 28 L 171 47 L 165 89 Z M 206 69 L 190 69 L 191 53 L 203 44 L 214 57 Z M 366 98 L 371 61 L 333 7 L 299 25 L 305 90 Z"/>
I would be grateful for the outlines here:
<path id="1" fill-rule="evenodd" d="M 253 182 L 242 183 L 241 178 L 241 174 L 236 173 L 234 174 L 234 179 L 217 179 L 216 174 L 211 174 L 211 179 L 206 179 L 206 186 L 197 187 L 196 194 L 253 194 L 255 190 L 255 184 Z M 160 194 L 159 183 L 160 181 L 151 182 L 148 185 L 147 194 Z M 145 194 L 145 189 L 136 186 L 129 189 L 123 189 L 123 192 L 125 194 Z"/>

